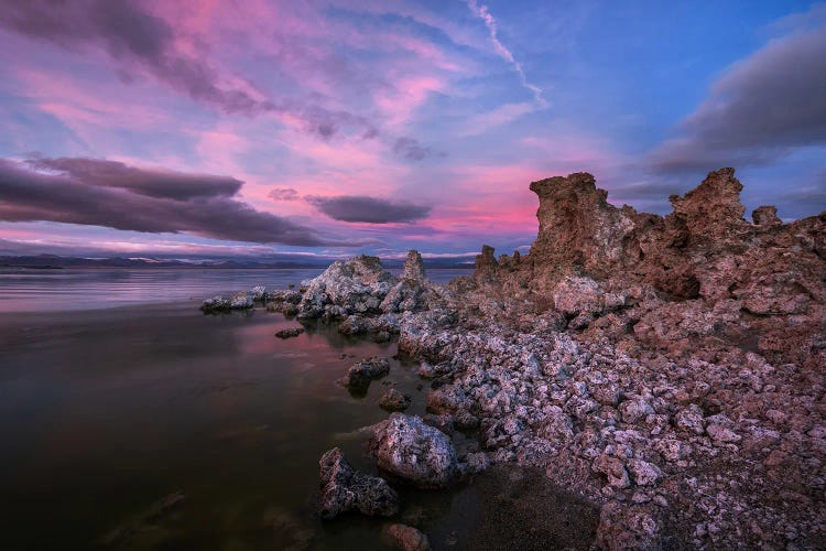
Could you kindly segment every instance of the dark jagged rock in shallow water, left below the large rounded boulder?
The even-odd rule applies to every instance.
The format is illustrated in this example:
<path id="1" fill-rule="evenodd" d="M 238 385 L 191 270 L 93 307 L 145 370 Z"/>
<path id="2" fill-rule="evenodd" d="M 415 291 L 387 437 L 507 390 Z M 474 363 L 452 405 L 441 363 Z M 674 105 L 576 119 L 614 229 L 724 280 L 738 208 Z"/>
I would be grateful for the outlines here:
<path id="1" fill-rule="evenodd" d="M 341 450 L 334 447 L 322 456 L 318 509 L 332 519 L 357 509 L 363 515 L 392 517 L 399 512 L 399 495 L 387 480 L 355 471 Z"/>

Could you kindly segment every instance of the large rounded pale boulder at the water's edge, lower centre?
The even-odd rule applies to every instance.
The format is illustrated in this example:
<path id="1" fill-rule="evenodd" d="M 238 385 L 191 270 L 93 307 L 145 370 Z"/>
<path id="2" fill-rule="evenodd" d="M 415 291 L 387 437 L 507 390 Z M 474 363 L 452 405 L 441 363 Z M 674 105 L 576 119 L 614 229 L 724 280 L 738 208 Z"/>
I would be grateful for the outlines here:
<path id="1" fill-rule="evenodd" d="M 370 452 L 379 467 L 420 488 L 444 488 L 458 463 L 450 439 L 416 415 L 392 413 L 373 430 Z"/>

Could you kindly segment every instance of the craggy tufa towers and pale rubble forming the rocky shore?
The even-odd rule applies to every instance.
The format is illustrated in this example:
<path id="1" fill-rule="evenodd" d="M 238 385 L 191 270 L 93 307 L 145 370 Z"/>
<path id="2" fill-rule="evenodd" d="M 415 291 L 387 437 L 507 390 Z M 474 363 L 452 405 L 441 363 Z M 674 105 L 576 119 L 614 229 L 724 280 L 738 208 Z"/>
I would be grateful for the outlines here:
<path id="1" fill-rule="evenodd" d="M 472 278 L 378 259 L 305 282 L 304 318 L 398 335 L 431 383 L 427 422 L 392 413 L 379 466 L 445 487 L 489 461 L 539 466 L 601 506 L 596 544 L 826 545 L 826 213 L 743 218 L 733 170 L 615 207 L 586 173 L 531 184 L 529 255 L 482 247 Z M 286 306 L 285 306 L 286 309 Z M 448 433 L 478 437 L 458 457 Z"/>

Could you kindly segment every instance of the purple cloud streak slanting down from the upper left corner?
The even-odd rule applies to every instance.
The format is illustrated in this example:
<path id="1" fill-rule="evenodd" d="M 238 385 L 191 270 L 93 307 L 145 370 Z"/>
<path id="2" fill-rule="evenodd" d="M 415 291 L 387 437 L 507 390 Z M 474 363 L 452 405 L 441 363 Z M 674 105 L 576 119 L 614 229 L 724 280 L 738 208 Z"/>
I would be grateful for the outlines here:
<path id="1" fill-rule="evenodd" d="M 208 63 L 208 51 L 193 56 L 175 44 L 175 30 L 145 6 L 130 0 L 77 0 L 51 2 L 28 0 L 6 2 L 0 10 L 0 28 L 61 46 L 66 50 L 98 47 L 129 75 L 138 67 L 174 90 L 227 114 L 254 116 L 261 112 L 297 117 L 304 129 L 327 139 L 351 128 L 363 138 L 378 136 L 365 117 L 345 110 L 330 110 L 294 98 L 272 99 L 253 94 L 253 87 L 221 86 L 221 75 Z"/>

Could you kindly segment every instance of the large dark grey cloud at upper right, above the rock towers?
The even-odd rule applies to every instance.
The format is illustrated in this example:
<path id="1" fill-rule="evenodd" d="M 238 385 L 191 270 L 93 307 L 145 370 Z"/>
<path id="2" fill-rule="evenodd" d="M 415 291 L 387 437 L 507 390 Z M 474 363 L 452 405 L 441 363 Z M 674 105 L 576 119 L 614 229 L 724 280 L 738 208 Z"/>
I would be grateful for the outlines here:
<path id="1" fill-rule="evenodd" d="M 663 172 L 768 164 L 826 143 L 826 28 L 769 43 L 733 65 L 682 133 L 652 156 Z"/>

